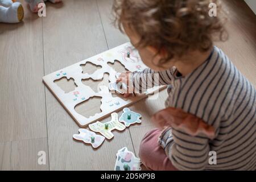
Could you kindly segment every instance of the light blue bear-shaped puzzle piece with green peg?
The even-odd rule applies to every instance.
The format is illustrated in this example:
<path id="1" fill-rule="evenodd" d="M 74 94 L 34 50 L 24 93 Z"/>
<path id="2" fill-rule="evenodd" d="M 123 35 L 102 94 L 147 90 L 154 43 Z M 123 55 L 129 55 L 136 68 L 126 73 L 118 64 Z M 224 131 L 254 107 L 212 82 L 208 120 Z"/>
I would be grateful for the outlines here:
<path id="1" fill-rule="evenodd" d="M 141 123 L 141 117 L 141 114 L 135 113 L 134 111 L 131 111 L 129 108 L 125 107 L 119 121 L 125 123 L 126 127 L 129 127 L 134 123 Z"/>

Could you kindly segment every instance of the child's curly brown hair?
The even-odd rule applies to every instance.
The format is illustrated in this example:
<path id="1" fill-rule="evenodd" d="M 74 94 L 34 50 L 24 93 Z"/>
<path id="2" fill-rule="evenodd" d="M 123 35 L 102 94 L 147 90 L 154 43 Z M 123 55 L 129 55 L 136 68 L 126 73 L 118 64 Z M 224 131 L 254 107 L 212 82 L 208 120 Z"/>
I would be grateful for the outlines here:
<path id="1" fill-rule="evenodd" d="M 153 46 L 158 53 L 165 50 L 166 63 L 187 51 L 208 51 L 213 39 L 224 40 L 222 20 L 209 16 L 209 4 L 218 0 L 115 0 L 114 23 L 123 32 L 123 24 L 141 38 L 137 46 Z M 159 63 L 159 64 L 162 64 Z"/>

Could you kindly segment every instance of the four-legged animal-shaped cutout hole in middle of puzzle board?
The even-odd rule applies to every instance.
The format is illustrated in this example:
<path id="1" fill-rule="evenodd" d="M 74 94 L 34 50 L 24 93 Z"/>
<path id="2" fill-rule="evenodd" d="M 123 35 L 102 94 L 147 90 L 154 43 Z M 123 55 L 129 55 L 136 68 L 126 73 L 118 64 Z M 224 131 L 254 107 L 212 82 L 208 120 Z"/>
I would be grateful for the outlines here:
<path id="1" fill-rule="evenodd" d="M 84 85 L 90 85 L 94 92 L 100 92 L 100 86 L 105 85 L 109 87 L 109 73 L 104 73 L 102 80 L 93 80 L 92 78 L 82 79 Z"/>

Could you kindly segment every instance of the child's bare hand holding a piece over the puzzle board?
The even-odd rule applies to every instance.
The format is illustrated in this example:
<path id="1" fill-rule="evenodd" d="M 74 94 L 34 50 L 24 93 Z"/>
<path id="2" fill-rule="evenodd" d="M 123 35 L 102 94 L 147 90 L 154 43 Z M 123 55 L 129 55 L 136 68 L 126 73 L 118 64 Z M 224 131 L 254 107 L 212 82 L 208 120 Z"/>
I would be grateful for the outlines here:
<path id="1" fill-rule="evenodd" d="M 127 71 L 125 73 L 121 73 L 119 78 L 117 78 L 117 83 L 123 82 L 127 85 L 126 93 L 123 94 L 123 97 L 127 98 L 133 95 L 133 83 L 131 81 L 131 72 Z"/>

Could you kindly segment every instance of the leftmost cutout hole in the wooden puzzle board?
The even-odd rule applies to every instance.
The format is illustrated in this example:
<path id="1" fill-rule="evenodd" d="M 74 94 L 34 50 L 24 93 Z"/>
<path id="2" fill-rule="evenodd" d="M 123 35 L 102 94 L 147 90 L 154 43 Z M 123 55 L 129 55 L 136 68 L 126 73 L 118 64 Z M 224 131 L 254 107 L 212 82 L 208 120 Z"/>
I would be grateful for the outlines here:
<path id="1" fill-rule="evenodd" d="M 69 78 L 68 80 L 67 77 L 62 77 L 58 80 L 54 80 L 53 82 L 55 82 L 55 84 L 57 84 L 65 93 L 69 93 L 77 87 L 73 78 Z"/>

